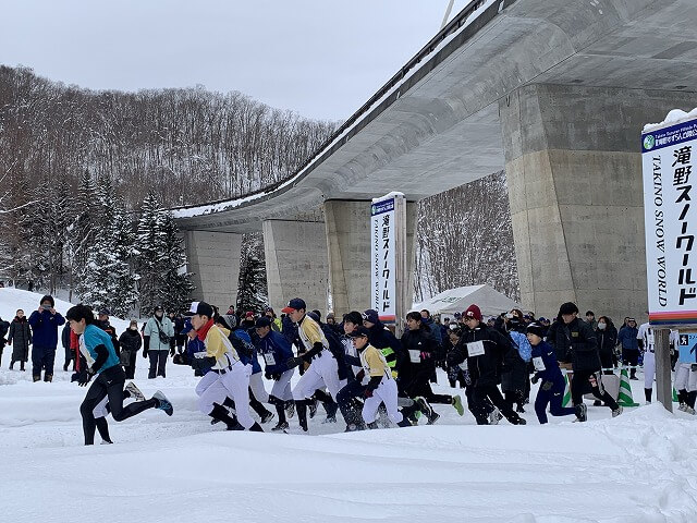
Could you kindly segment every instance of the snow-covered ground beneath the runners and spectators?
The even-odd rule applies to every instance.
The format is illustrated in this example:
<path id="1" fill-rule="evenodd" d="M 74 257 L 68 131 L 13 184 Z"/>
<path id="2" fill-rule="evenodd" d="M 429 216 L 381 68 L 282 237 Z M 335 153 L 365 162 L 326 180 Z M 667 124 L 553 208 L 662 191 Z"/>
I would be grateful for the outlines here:
<path id="1" fill-rule="evenodd" d="M 16 292 L 16 291 L 15 291 Z M 16 296 L 3 303 L 16 308 Z M 38 305 L 38 304 L 37 304 Z M 28 308 L 28 305 L 22 305 Z M 60 309 L 60 306 L 59 306 Z M 64 312 L 64 311 L 61 311 Z M 59 352 L 57 361 L 62 363 Z M 660 405 L 612 419 L 551 418 L 479 427 L 437 405 L 433 426 L 342 434 L 227 433 L 196 410 L 188 367 L 136 384 L 161 389 L 174 415 L 147 411 L 115 423 L 111 446 L 82 446 L 85 389 L 57 366 L 54 382 L 0 369 L 0 521 L 21 522 L 693 522 L 697 419 Z M 440 376 L 441 382 L 447 382 Z M 632 381 L 635 399 L 643 380 Z M 437 387 L 438 391 L 451 391 Z M 533 392 L 535 394 L 535 390 Z M 273 422 L 272 422 L 273 423 Z M 265 428 L 269 428 L 266 425 Z M 97 437 L 99 441 L 99 437 Z"/>

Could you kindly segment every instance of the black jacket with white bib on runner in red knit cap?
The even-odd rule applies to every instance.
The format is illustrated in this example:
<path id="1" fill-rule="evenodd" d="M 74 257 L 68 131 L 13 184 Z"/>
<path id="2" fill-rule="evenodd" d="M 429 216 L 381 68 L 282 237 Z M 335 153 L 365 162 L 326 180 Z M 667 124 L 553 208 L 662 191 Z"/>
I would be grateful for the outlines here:
<path id="1" fill-rule="evenodd" d="M 481 341 L 484 354 L 470 355 L 467 343 Z M 469 377 L 475 387 L 497 386 L 501 381 L 501 368 L 509 353 L 514 350 L 510 338 L 485 324 L 475 329 L 465 329 L 461 342 L 448 357 L 450 365 L 460 365 L 467 358 Z"/>

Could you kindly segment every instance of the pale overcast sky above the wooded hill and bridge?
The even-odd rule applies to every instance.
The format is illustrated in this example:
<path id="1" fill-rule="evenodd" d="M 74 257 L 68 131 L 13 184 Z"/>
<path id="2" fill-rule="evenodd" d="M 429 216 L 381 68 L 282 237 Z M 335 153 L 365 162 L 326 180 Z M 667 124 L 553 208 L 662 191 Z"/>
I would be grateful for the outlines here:
<path id="1" fill-rule="evenodd" d="M 0 63 L 94 89 L 201 84 L 344 120 L 436 35 L 448 3 L 0 0 Z"/>

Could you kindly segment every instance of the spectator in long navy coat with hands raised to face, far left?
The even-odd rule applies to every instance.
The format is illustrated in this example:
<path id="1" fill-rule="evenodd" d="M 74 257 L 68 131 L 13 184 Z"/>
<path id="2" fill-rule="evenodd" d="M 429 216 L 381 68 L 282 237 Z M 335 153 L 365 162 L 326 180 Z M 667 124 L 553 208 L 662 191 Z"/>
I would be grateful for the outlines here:
<path id="1" fill-rule="evenodd" d="M 41 297 L 38 311 L 34 311 L 29 316 L 34 339 L 34 349 L 32 350 L 34 381 L 41 379 L 41 370 L 44 370 L 44 381 L 53 379 L 58 328 L 65 323 L 65 318 L 54 307 L 53 296 L 47 294 Z"/>

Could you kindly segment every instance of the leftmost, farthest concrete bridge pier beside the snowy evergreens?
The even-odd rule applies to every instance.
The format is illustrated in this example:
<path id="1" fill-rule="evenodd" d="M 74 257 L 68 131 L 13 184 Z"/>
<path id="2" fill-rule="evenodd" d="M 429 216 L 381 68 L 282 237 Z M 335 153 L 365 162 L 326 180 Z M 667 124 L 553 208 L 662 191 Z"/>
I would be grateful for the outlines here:
<path id="1" fill-rule="evenodd" d="M 223 312 L 237 302 L 242 234 L 185 231 L 188 270 L 196 285 L 193 300 L 217 305 Z"/>

